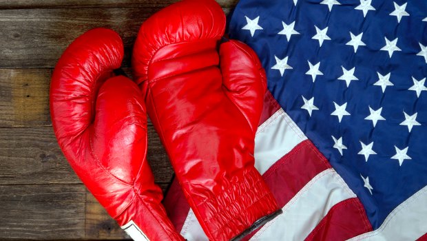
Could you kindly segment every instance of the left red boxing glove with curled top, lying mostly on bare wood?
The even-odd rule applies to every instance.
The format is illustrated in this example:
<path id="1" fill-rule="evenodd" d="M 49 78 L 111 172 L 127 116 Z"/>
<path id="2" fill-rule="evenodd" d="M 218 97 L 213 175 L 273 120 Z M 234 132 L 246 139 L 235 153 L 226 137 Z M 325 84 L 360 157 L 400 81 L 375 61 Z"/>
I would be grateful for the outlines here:
<path id="1" fill-rule="evenodd" d="M 87 189 L 134 240 L 183 240 L 167 218 L 147 163 L 147 116 L 140 90 L 113 70 L 123 43 L 112 30 L 79 36 L 52 75 L 52 125 Z"/>

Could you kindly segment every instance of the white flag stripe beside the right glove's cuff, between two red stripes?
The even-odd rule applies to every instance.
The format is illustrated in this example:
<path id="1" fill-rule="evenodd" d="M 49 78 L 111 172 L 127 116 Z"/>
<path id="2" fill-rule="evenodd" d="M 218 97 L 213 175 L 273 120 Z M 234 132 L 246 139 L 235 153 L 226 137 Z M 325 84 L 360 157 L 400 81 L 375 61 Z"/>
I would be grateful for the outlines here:
<path id="1" fill-rule="evenodd" d="M 304 240 L 334 205 L 355 197 L 334 169 L 322 171 L 282 208 L 280 216 L 267 222 L 251 240 Z"/>

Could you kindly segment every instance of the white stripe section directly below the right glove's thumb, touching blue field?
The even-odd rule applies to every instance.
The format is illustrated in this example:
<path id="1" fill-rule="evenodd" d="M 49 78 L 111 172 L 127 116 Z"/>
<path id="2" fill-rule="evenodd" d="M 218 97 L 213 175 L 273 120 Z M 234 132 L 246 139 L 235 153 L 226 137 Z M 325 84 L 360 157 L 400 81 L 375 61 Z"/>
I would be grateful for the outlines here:
<path id="1" fill-rule="evenodd" d="M 261 175 L 264 174 L 271 165 L 306 139 L 283 109 L 279 109 L 258 127 L 255 136 L 256 169 Z"/>

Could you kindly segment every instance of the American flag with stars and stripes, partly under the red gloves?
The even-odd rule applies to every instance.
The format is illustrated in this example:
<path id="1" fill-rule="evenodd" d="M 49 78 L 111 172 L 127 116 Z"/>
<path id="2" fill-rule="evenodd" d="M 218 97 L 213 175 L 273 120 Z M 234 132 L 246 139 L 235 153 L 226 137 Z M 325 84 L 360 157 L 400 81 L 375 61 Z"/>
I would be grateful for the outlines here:
<path id="1" fill-rule="evenodd" d="M 283 210 L 247 239 L 427 239 L 427 1 L 240 0 L 229 20 L 267 71 L 256 167 Z M 207 240 L 176 182 L 165 206 Z"/>

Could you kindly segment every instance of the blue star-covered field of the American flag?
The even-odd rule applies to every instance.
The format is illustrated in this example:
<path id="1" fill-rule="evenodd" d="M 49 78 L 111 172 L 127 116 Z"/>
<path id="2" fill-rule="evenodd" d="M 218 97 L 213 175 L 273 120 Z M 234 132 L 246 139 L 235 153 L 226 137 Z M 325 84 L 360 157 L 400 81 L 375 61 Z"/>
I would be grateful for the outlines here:
<path id="1" fill-rule="evenodd" d="M 374 229 L 427 185 L 427 1 L 241 0 L 229 34 Z"/>

